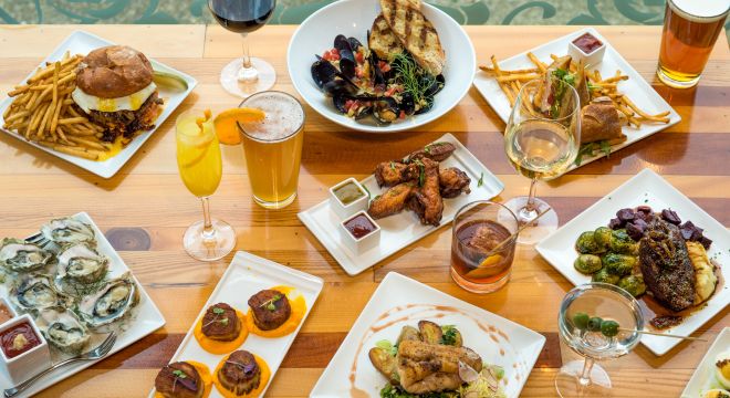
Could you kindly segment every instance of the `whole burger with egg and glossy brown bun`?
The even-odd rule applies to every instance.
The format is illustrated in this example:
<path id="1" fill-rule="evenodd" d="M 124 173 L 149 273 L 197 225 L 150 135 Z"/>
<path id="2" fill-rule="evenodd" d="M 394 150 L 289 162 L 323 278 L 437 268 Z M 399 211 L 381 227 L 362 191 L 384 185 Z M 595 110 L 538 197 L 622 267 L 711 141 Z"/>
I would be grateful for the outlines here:
<path id="1" fill-rule="evenodd" d="M 145 54 L 132 48 L 96 49 L 81 61 L 71 95 L 90 119 L 105 128 L 102 140 L 131 139 L 155 127 L 163 101 L 153 73 Z"/>

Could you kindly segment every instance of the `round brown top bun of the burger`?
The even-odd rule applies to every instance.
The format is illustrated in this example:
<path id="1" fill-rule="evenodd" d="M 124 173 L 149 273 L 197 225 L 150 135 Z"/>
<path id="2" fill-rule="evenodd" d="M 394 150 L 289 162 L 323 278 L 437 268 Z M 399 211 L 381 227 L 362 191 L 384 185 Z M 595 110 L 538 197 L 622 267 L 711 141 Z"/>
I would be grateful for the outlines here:
<path id="1" fill-rule="evenodd" d="M 152 81 L 149 60 L 126 45 L 109 45 L 90 52 L 76 74 L 76 86 L 101 98 L 134 94 Z"/>

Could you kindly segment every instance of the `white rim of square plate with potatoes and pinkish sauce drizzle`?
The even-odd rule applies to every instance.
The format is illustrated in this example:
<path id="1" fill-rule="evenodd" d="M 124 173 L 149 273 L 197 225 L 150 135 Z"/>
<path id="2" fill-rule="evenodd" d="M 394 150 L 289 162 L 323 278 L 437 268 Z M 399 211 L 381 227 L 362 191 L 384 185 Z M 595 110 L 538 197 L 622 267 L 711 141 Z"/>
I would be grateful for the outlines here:
<path id="1" fill-rule="evenodd" d="M 393 281 L 393 282 L 390 282 L 390 281 Z M 330 362 L 327 363 L 327 366 L 322 371 L 322 375 L 320 375 L 320 378 L 317 378 L 317 381 L 314 384 L 314 387 L 312 388 L 312 391 L 310 391 L 311 397 L 317 397 L 314 392 L 317 391 L 319 389 L 323 388 L 320 385 L 325 383 L 325 376 L 327 376 L 327 374 L 330 373 L 330 367 L 333 366 L 334 360 L 337 357 L 337 355 L 344 355 L 344 354 L 341 354 L 341 352 L 344 349 L 343 347 L 345 345 L 345 342 L 353 334 L 353 329 L 355 328 L 355 326 L 357 326 L 361 322 L 364 322 L 363 320 L 365 317 L 365 313 L 367 311 L 372 311 L 372 307 L 377 305 L 375 298 L 377 297 L 378 294 L 384 294 L 380 291 L 385 292 L 386 289 L 390 287 L 390 284 L 396 284 L 398 282 L 404 283 L 404 284 L 408 284 L 408 285 L 413 286 L 413 289 L 424 290 L 427 293 L 429 293 L 429 294 L 431 294 L 435 297 L 438 297 L 440 300 L 455 300 L 456 302 L 459 303 L 459 305 L 461 305 L 465 308 L 467 308 L 471 312 L 474 312 L 477 314 L 482 314 L 482 313 L 491 314 L 491 315 L 498 317 L 499 320 L 501 320 L 502 322 L 505 322 L 510 326 L 519 328 L 522 333 L 525 333 L 526 335 L 530 335 L 531 337 L 534 337 L 533 344 L 531 344 L 526 347 L 531 347 L 535 344 L 538 345 L 538 347 L 535 348 L 534 355 L 532 357 L 526 358 L 526 360 L 525 360 L 526 365 L 529 365 L 530 373 L 532 373 L 532 370 L 534 369 L 534 365 L 536 364 L 538 358 L 540 357 L 540 353 L 544 348 L 545 343 L 548 341 L 544 335 L 542 335 L 542 334 L 540 334 L 540 333 L 538 333 L 538 332 L 535 332 L 535 331 L 533 331 L 533 329 L 531 329 L 526 326 L 523 326 L 523 325 L 521 325 L 521 324 L 519 324 L 519 323 L 517 323 L 512 320 L 505 318 L 505 317 L 503 317 L 503 316 L 501 316 L 497 313 L 493 313 L 491 311 L 481 308 L 481 307 L 479 307 L 474 304 L 471 304 L 469 302 L 466 302 L 463 300 L 457 298 L 457 297 L 455 297 L 455 296 L 452 296 L 448 293 L 441 292 L 440 290 L 438 290 L 436 287 L 432 287 L 432 286 L 429 286 L 425 283 L 421 283 L 421 282 L 419 282 L 419 281 L 417 281 L 413 277 L 408 277 L 408 276 L 406 276 L 406 275 L 404 275 L 399 272 L 389 271 L 385 275 L 383 281 L 380 281 L 377 289 L 375 289 L 375 291 L 371 295 L 369 300 L 367 301 L 367 303 L 363 307 L 363 311 L 361 311 L 359 315 L 357 316 L 357 318 L 355 320 L 353 325 L 350 327 L 350 331 L 347 332 L 347 335 L 345 336 L 343 342 L 340 344 L 340 347 L 337 347 L 337 350 L 332 356 L 332 359 L 330 359 Z M 525 377 L 523 380 L 520 380 L 520 391 L 518 392 L 518 396 L 522 391 L 522 389 L 524 388 L 524 385 L 526 384 L 529 377 L 530 377 L 530 375 L 528 374 L 528 377 Z M 327 397 L 327 395 L 321 395 L 321 396 L 322 397 Z"/>

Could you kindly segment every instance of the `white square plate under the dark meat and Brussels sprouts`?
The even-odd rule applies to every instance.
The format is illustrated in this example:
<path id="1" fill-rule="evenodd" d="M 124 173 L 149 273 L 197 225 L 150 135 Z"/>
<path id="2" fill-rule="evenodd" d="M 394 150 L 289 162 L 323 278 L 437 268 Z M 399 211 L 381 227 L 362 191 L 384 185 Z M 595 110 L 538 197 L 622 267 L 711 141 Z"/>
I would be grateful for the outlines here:
<path id="1" fill-rule="evenodd" d="M 730 230 L 648 168 L 543 239 L 535 249 L 574 285 L 588 283 L 591 276 L 584 275 L 573 268 L 573 262 L 578 255 L 574 247 L 575 240 L 583 231 L 592 231 L 601 226 L 607 226 L 608 220 L 616 217 L 616 211 L 642 205 L 650 206 L 654 211 L 675 210 L 682 221 L 691 220 L 697 227 L 703 228 L 705 235 L 712 240 L 712 245 L 707 251 L 707 255 L 720 264 L 722 280 L 729 280 Z M 719 285 L 715 294 L 700 308 L 687 315 L 678 326 L 671 327 L 667 332 L 689 336 L 724 310 L 728 303 L 730 303 L 730 289 L 727 285 Z M 645 320 L 646 323 L 648 321 Z M 642 344 L 656 355 L 666 354 L 679 343 L 681 343 L 681 339 L 678 338 L 651 335 L 642 337 Z"/>

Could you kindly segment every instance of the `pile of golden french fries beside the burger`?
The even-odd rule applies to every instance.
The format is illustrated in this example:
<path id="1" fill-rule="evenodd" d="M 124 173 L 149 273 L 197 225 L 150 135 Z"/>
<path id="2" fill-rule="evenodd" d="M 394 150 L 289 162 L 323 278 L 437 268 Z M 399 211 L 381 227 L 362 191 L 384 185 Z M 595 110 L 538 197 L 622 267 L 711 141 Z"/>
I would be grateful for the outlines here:
<path id="1" fill-rule="evenodd" d="M 2 128 L 53 150 L 100 160 L 112 149 L 101 140 L 104 127 L 80 114 L 71 93 L 76 87 L 76 66 L 82 55 L 46 63 L 25 84 L 8 93 L 13 102 L 3 113 Z"/>

